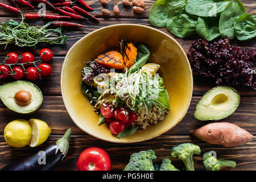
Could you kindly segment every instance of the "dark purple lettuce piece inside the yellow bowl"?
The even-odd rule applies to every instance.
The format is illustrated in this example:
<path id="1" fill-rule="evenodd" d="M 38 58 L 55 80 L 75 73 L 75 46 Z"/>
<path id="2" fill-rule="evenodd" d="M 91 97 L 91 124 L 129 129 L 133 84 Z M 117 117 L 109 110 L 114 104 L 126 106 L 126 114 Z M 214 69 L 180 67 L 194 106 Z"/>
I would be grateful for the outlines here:
<path id="1" fill-rule="evenodd" d="M 82 68 L 82 80 L 93 86 L 93 78 L 100 73 L 109 73 L 109 69 L 95 61 L 88 61 L 86 67 Z"/>

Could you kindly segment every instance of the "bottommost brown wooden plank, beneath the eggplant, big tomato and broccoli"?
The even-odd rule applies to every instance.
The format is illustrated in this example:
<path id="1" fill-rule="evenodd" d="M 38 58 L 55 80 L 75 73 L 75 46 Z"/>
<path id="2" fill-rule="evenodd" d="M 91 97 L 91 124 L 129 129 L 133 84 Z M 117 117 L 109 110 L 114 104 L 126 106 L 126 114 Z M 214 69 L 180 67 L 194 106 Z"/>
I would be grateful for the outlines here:
<path id="1" fill-rule="evenodd" d="M 64 133 L 64 131 L 62 131 Z M 13 148 L 5 143 L 3 137 L 0 136 L 0 168 L 14 162 L 24 156 L 33 154 L 34 152 L 42 150 L 48 143 L 54 142 L 59 139 L 59 136 L 51 136 L 46 143 L 36 148 L 23 147 Z M 147 140 L 140 143 L 133 144 L 117 144 L 104 142 L 89 135 L 72 135 L 70 139 L 70 147 L 67 156 L 55 168 L 55 170 L 77 170 L 76 162 L 80 153 L 88 147 L 97 146 L 104 148 L 110 155 L 112 162 L 112 170 L 122 170 L 129 162 L 130 155 L 133 152 L 152 149 L 156 152 L 158 159 L 154 160 L 155 163 L 160 163 L 163 158 L 172 160 L 177 168 L 182 169 L 183 163 L 181 160 L 172 159 L 170 156 L 171 148 L 181 143 L 192 142 L 201 148 L 201 154 L 194 156 L 196 170 L 204 170 L 203 154 L 205 151 L 216 151 L 218 158 L 234 160 L 237 162 L 236 168 L 223 168 L 222 170 L 253 170 L 256 164 L 256 139 L 244 146 L 225 148 L 222 146 L 212 145 L 202 142 L 199 139 L 191 136 L 180 135 L 161 135 L 155 139 Z"/>

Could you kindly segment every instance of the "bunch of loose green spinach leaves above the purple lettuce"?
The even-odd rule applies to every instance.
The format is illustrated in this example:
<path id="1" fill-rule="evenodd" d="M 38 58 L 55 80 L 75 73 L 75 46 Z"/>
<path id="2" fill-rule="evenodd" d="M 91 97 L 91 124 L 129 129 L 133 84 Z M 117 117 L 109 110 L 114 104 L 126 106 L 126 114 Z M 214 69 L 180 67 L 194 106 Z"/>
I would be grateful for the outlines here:
<path id="1" fill-rule="evenodd" d="M 208 41 L 220 35 L 230 40 L 256 37 L 256 16 L 246 14 L 240 0 L 158 0 L 149 20 L 180 38 L 196 34 Z"/>

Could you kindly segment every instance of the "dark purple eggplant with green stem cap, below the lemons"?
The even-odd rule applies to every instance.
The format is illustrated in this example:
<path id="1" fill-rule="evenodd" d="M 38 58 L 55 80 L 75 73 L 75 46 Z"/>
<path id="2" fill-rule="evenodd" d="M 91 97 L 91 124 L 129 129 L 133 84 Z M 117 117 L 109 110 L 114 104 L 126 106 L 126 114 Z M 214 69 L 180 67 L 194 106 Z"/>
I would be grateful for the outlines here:
<path id="1" fill-rule="evenodd" d="M 71 132 L 72 130 L 68 129 L 62 138 L 40 150 L 45 153 L 39 153 L 40 151 L 36 152 L 26 158 L 8 164 L 3 167 L 1 171 L 49 171 L 53 169 L 68 152 L 68 140 L 71 136 Z M 44 154 L 46 155 L 46 164 L 41 164 L 39 162 L 43 162 L 43 159 L 41 158 Z"/>

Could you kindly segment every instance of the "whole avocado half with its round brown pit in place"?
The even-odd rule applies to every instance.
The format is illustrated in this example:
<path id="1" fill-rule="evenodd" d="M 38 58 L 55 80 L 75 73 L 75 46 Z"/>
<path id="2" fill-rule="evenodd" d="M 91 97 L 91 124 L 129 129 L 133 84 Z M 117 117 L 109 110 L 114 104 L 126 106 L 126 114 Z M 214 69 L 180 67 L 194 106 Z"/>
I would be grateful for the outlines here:
<path id="1" fill-rule="evenodd" d="M 0 98 L 6 107 L 20 114 L 34 113 L 43 103 L 41 90 L 28 81 L 14 81 L 1 85 Z"/>

